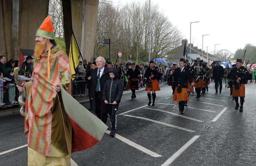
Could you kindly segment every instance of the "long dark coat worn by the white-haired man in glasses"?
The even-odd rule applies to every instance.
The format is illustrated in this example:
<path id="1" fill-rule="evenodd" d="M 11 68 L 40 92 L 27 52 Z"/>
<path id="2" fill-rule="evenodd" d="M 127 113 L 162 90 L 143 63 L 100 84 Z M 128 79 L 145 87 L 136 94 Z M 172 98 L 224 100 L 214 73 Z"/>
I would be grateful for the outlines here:
<path id="1" fill-rule="evenodd" d="M 94 112 L 96 112 L 96 105 L 100 104 L 100 112 L 101 113 L 108 113 L 108 110 L 106 110 L 105 103 L 102 100 L 102 92 L 104 88 L 104 84 L 108 79 L 110 79 L 108 75 L 108 68 L 104 68 L 104 71 L 100 77 L 100 103 L 96 103 L 96 84 L 97 84 L 97 73 L 98 73 L 98 68 L 93 69 L 91 71 L 92 78 L 91 78 L 91 94 L 90 97 L 92 98 L 92 109 Z"/>

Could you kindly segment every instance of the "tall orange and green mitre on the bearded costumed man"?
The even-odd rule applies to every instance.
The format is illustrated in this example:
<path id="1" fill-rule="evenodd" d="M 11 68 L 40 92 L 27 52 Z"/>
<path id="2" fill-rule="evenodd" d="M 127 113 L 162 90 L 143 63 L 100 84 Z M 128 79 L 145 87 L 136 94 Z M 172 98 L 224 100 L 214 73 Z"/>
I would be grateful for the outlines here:
<path id="1" fill-rule="evenodd" d="M 38 30 L 36 31 L 36 36 L 47 38 L 47 39 L 54 39 L 54 32 L 51 17 L 48 16 L 44 19 L 44 22 L 40 25 Z"/>

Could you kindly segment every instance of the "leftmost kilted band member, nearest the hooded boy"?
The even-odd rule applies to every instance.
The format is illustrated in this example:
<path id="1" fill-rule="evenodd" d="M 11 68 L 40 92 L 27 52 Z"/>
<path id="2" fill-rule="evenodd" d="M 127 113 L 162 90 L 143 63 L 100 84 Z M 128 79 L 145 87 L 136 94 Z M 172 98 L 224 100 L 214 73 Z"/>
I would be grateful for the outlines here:
<path id="1" fill-rule="evenodd" d="M 136 98 L 135 91 L 139 90 L 138 77 L 140 76 L 140 70 L 135 68 L 135 63 L 132 63 L 132 68 L 128 69 L 125 75 L 128 77 L 127 89 L 132 90 L 132 99 Z"/>

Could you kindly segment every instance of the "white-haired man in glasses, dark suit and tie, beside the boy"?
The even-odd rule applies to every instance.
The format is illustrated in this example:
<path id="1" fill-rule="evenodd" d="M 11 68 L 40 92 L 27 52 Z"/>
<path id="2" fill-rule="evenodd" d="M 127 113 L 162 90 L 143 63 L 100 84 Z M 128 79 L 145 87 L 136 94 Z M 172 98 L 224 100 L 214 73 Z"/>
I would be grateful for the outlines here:
<path id="1" fill-rule="evenodd" d="M 105 66 L 105 59 L 99 56 L 96 59 L 97 68 L 93 69 L 91 72 L 91 94 L 90 97 L 92 99 L 92 109 L 96 113 L 99 119 L 106 124 L 108 118 L 108 110 L 106 110 L 106 106 L 104 101 L 102 100 L 102 91 L 105 82 L 110 79 L 107 74 L 108 68 Z"/>

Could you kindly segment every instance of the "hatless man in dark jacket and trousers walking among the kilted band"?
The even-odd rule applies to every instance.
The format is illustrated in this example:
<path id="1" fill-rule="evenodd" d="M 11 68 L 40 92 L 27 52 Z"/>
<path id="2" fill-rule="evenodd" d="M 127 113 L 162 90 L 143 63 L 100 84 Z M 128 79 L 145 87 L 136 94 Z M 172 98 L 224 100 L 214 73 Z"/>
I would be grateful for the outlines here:
<path id="1" fill-rule="evenodd" d="M 224 68 L 220 66 L 220 61 L 216 62 L 216 66 L 213 68 L 212 77 L 215 83 L 215 94 L 218 94 L 218 83 L 220 83 L 220 93 L 222 90 L 222 78 L 224 76 Z"/>

